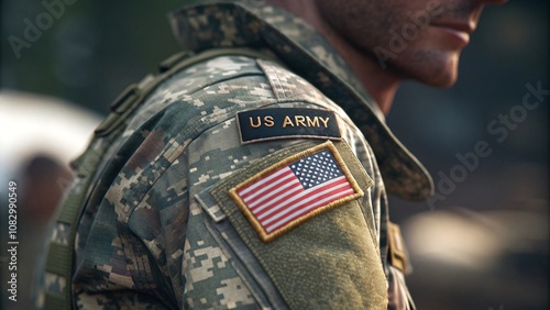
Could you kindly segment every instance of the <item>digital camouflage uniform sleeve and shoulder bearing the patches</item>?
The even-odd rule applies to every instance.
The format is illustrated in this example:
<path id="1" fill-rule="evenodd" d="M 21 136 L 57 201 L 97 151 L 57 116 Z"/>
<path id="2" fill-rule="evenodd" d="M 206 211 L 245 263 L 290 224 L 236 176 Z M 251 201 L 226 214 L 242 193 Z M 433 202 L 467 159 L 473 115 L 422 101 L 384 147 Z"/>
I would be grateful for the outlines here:
<path id="1" fill-rule="evenodd" d="M 273 75 L 266 84 L 249 73 L 176 100 L 175 92 L 160 92 L 158 104 L 173 103 L 127 131 L 130 139 L 107 168 L 112 180 L 106 178 L 90 212 L 75 275 L 80 308 L 387 308 L 380 202 L 373 202 L 383 191 L 372 151 L 358 147 L 364 139 L 319 93 L 293 96 L 299 84 Z M 266 129 L 248 141 L 239 113 L 267 109 L 280 113 L 245 114 L 256 134 Z M 321 119 L 327 112 L 339 136 Z M 275 131 L 283 125 L 293 130 Z M 311 164 L 316 156 L 321 164 Z M 307 165 L 308 180 L 293 165 Z M 280 169 L 296 187 L 273 186 Z M 340 182 L 315 191 L 319 179 L 308 173 Z M 263 202 L 254 207 L 242 193 L 246 187 L 285 190 L 258 191 Z M 316 193 L 305 193 L 308 187 Z M 277 211 L 278 197 L 297 200 L 290 209 L 304 213 Z"/>

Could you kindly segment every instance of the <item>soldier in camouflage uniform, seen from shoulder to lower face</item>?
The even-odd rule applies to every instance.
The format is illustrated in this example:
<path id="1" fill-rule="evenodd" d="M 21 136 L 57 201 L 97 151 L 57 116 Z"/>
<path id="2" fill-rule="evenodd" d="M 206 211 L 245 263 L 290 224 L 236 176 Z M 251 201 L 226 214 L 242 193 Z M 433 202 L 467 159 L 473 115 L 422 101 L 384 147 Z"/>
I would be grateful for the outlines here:
<path id="1" fill-rule="evenodd" d="M 384 113 L 404 79 L 452 85 L 501 1 L 274 2 L 172 15 L 184 60 L 121 96 L 76 160 L 65 201 L 86 195 L 38 307 L 414 308 L 386 192 L 432 182 Z"/>

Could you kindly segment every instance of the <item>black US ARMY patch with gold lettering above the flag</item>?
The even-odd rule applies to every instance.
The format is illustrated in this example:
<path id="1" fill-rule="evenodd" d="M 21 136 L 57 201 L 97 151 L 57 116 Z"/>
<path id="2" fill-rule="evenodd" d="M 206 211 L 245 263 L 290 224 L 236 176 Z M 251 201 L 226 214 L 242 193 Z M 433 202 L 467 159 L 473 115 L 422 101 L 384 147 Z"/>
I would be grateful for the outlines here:
<path id="1" fill-rule="evenodd" d="M 311 137 L 340 140 L 332 111 L 306 108 L 271 108 L 237 113 L 243 144 L 263 140 Z"/>

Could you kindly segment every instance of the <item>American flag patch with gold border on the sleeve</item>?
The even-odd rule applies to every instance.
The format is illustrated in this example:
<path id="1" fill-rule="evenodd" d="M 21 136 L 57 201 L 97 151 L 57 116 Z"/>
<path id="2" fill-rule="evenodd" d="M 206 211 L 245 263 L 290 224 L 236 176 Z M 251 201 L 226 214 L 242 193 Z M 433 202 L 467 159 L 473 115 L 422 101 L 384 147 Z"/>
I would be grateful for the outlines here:
<path id="1" fill-rule="evenodd" d="M 363 196 L 330 142 L 258 173 L 229 191 L 264 242 Z"/>

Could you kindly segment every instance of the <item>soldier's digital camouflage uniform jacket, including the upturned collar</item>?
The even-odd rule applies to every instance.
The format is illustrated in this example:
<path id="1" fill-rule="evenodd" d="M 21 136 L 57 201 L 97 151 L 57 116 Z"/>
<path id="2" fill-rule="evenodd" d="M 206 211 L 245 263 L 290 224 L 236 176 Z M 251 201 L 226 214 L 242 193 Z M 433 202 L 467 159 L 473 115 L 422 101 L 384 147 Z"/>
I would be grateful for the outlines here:
<path id="1" fill-rule="evenodd" d="M 403 274 L 392 266 L 406 262 L 388 263 L 403 251 L 394 244 L 388 254 L 398 239 L 386 190 L 420 200 L 431 180 L 348 65 L 310 26 L 265 3 L 184 8 L 172 22 L 194 53 L 232 46 L 263 56 L 226 55 L 183 69 L 129 118 L 80 218 L 74 305 L 408 308 Z M 290 131 L 276 133 L 274 118 L 286 117 Z M 250 133 L 258 135 L 245 141 Z M 353 195 L 264 240 L 230 192 L 321 151 L 338 157 Z M 53 239 L 67 242 L 63 225 Z M 51 290 L 67 285 L 45 278 Z"/>

